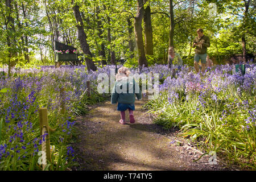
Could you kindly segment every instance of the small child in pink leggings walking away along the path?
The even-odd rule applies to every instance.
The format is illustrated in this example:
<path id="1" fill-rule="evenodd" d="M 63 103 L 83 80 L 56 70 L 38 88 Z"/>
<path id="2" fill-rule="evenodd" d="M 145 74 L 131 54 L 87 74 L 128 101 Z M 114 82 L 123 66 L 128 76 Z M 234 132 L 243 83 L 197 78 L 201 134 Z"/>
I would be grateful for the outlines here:
<path id="1" fill-rule="evenodd" d="M 111 95 L 111 104 L 117 105 L 117 110 L 121 111 L 121 119 L 119 122 L 125 125 L 125 111 L 129 110 L 130 123 L 134 123 L 135 110 L 135 95 L 138 100 L 142 99 L 141 90 L 137 82 L 135 82 L 133 77 L 129 77 L 129 69 L 126 67 L 121 67 L 118 69 L 118 73 L 115 76 L 115 85 Z"/>

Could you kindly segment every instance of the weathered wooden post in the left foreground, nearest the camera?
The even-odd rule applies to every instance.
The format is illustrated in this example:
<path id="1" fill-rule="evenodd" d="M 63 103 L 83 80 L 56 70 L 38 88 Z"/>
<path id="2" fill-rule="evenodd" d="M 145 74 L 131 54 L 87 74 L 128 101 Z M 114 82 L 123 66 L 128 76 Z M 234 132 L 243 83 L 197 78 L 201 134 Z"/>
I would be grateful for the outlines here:
<path id="1" fill-rule="evenodd" d="M 40 121 L 40 133 L 44 135 L 44 132 L 47 133 L 46 137 L 42 137 L 42 151 L 46 152 L 46 159 L 51 162 L 51 150 L 50 150 L 50 140 L 49 140 L 49 126 L 48 126 L 48 116 L 47 108 L 39 109 L 39 121 Z M 42 155 L 44 157 L 44 155 Z M 46 167 L 47 163 L 43 164 L 43 170 Z"/>

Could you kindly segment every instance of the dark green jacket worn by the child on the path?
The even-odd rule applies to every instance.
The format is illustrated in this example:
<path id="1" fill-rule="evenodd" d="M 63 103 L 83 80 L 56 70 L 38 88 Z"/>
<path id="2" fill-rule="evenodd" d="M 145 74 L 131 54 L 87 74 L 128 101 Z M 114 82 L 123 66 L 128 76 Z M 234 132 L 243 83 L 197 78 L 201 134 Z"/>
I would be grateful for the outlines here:
<path id="1" fill-rule="evenodd" d="M 115 81 L 111 94 L 111 104 L 117 102 L 122 104 L 134 104 L 135 95 L 138 100 L 141 100 L 141 89 L 139 89 L 137 82 L 135 82 L 134 78 L 129 81 L 128 77 L 122 77 L 121 80 Z"/>

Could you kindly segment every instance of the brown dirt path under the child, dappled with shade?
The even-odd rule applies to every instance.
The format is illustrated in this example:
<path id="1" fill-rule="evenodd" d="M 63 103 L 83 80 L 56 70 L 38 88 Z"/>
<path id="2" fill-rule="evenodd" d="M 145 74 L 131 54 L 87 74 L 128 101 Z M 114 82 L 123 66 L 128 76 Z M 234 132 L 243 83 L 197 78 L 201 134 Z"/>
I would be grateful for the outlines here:
<path id="1" fill-rule="evenodd" d="M 117 105 L 106 101 L 78 118 L 79 131 L 73 148 L 79 167 L 73 170 L 227 170 L 226 165 L 209 164 L 195 146 L 154 125 L 145 111 L 144 100 L 135 102 L 135 123 L 121 125 Z M 126 111 L 126 120 L 129 120 Z M 181 146 L 174 140 L 181 141 Z M 218 158 L 217 158 L 218 159 Z"/>

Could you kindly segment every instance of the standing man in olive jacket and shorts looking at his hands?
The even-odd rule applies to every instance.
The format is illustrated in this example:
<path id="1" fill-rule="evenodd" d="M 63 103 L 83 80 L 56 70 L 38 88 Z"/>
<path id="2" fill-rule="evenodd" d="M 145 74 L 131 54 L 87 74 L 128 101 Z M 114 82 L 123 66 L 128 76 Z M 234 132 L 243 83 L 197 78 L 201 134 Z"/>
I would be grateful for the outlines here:
<path id="1" fill-rule="evenodd" d="M 203 29 L 197 29 L 197 37 L 193 41 L 192 47 L 195 48 L 195 57 L 194 57 L 194 66 L 196 72 L 199 72 L 199 60 L 202 63 L 201 71 L 204 73 L 205 71 L 205 64 L 207 58 L 207 48 L 210 47 L 210 38 L 203 34 Z"/>

